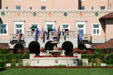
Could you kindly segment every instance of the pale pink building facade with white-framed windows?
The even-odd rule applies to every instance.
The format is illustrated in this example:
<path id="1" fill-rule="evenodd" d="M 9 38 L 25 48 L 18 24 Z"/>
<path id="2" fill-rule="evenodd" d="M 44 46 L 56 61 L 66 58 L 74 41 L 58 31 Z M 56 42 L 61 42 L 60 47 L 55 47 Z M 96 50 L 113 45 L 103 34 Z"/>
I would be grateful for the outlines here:
<path id="1" fill-rule="evenodd" d="M 104 28 L 99 20 L 112 13 L 113 0 L 0 0 L 0 3 L 0 43 L 10 43 L 13 34 L 20 31 L 30 34 L 33 26 L 40 31 L 42 28 L 47 31 L 49 26 L 60 27 L 61 31 L 82 31 L 91 35 L 92 43 L 113 38 L 113 25 Z"/>

